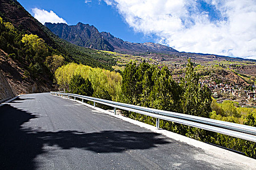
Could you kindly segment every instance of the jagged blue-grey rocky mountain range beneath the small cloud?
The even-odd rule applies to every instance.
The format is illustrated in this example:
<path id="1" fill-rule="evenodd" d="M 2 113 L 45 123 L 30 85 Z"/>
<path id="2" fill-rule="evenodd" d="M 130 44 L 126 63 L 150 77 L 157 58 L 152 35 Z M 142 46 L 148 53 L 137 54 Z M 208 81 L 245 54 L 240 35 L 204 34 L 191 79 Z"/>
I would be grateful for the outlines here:
<path id="1" fill-rule="evenodd" d="M 110 33 L 98 32 L 98 29 L 93 25 L 83 24 L 81 22 L 77 25 L 67 25 L 64 23 L 52 24 L 46 22 L 44 25 L 60 38 L 86 48 L 125 53 L 146 51 L 164 53 L 178 52 L 171 47 L 161 44 L 123 41 Z"/>

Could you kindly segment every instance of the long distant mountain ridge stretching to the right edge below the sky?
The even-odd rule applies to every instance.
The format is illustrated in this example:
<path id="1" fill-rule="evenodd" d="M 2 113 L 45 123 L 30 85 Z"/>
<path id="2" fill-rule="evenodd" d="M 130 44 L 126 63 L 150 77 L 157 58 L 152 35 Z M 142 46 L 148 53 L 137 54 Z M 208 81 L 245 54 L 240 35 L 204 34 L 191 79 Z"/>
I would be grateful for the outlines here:
<path id="1" fill-rule="evenodd" d="M 225 58 L 227 60 L 237 60 L 237 61 L 256 61 L 254 59 L 246 59 L 246 58 L 241 58 L 241 57 L 230 57 L 230 56 L 223 56 L 223 55 L 217 55 L 217 54 L 205 54 L 205 53 L 196 53 L 196 52 L 185 52 L 185 51 L 177 51 L 171 47 L 165 46 L 165 45 L 161 45 L 158 43 L 153 43 L 153 42 L 145 42 L 145 43 L 133 43 L 133 42 L 129 42 L 129 41 L 124 41 L 118 37 L 115 37 L 114 35 L 112 35 L 109 32 L 98 32 L 98 29 L 94 26 L 94 25 L 89 25 L 89 24 L 83 24 L 81 22 L 78 22 L 77 25 L 67 25 L 67 24 L 63 24 L 63 23 L 49 23 L 46 22 L 44 24 L 53 34 L 56 34 L 57 36 L 59 36 L 60 38 L 67 40 L 73 44 L 79 45 L 79 41 L 76 41 L 75 39 L 67 39 L 67 38 L 63 38 L 63 36 L 67 36 L 65 34 L 73 34 L 74 36 L 74 32 L 68 32 L 68 28 L 74 28 L 74 27 L 81 27 L 81 25 L 83 25 L 83 27 L 86 27 L 87 30 L 96 30 L 94 35 L 95 37 L 98 37 L 100 40 L 98 42 L 101 42 L 100 46 L 97 45 L 79 45 L 85 48 L 92 48 L 92 49 L 96 49 L 96 50 L 103 50 L 103 51 L 115 51 L 115 52 L 119 52 L 119 53 L 126 53 L 126 54 L 140 54 L 140 53 L 145 53 L 145 52 L 155 52 L 155 53 L 167 53 L 167 54 L 174 54 L 176 56 L 182 57 L 182 56 L 209 56 L 210 58 L 217 58 L 217 57 L 221 57 L 221 58 Z M 65 25 L 65 29 L 62 28 L 61 25 Z M 58 30 L 61 30 L 61 33 L 58 32 Z M 78 33 L 82 34 L 83 32 Z M 92 32 L 91 32 L 92 33 Z M 64 35 L 63 35 L 64 34 Z M 80 36 L 80 35 L 79 35 Z M 78 39 L 78 38 L 77 38 Z M 91 41 L 90 38 L 81 40 L 81 41 Z M 97 41 L 93 40 L 92 44 L 96 43 Z M 87 43 L 87 44 L 90 44 Z M 94 48 L 96 47 L 96 48 Z M 97 48 L 98 47 L 98 48 Z"/>

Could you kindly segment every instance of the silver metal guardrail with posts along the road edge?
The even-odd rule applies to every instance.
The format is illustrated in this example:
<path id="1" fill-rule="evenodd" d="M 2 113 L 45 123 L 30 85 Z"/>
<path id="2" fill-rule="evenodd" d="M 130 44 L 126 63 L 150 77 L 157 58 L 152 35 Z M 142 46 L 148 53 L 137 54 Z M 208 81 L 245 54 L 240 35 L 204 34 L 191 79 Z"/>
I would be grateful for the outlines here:
<path id="1" fill-rule="evenodd" d="M 114 114 L 116 114 L 116 109 L 119 108 L 122 110 L 127 110 L 131 112 L 136 112 L 139 114 L 151 116 L 151 117 L 157 118 L 156 126 L 158 129 L 159 129 L 159 119 L 163 119 L 163 120 L 169 120 L 176 123 L 189 125 L 189 126 L 197 127 L 200 129 L 205 129 L 212 132 L 217 132 L 220 134 L 234 136 L 241 139 L 256 142 L 256 127 L 253 127 L 253 126 L 246 126 L 242 124 L 231 123 L 231 122 L 226 122 L 221 120 L 163 111 L 163 110 L 152 109 L 148 107 L 141 107 L 141 106 L 126 104 L 121 102 L 107 101 L 103 99 L 82 96 L 78 94 L 60 93 L 60 92 L 50 92 L 50 93 L 52 95 L 63 96 L 67 98 L 74 97 L 75 100 L 76 98 L 79 98 L 82 100 L 82 102 L 84 100 L 92 101 L 94 102 L 94 106 L 96 102 L 105 104 L 108 106 L 112 106 L 114 107 Z"/>

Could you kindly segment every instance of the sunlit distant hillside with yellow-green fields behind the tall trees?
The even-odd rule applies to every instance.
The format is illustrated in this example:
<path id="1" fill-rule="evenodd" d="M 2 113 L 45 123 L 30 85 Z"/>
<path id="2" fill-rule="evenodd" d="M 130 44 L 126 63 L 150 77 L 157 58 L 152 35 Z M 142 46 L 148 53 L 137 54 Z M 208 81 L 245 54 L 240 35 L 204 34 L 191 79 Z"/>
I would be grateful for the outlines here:
<path id="1" fill-rule="evenodd" d="M 116 71 L 123 70 L 130 62 L 153 64 L 162 68 L 167 66 L 173 71 L 173 76 L 178 81 L 179 77 L 184 76 L 185 67 L 188 58 L 195 63 L 196 70 L 199 75 L 204 78 L 211 78 L 213 81 L 219 80 L 230 85 L 253 85 L 256 77 L 256 60 L 248 60 L 241 58 L 222 57 L 217 55 L 200 55 L 184 53 L 153 53 L 144 52 L 137 55 L 121 54 L 118 52 L 108 51 L 118 60 L 117 65 L 113 66 Z"/>

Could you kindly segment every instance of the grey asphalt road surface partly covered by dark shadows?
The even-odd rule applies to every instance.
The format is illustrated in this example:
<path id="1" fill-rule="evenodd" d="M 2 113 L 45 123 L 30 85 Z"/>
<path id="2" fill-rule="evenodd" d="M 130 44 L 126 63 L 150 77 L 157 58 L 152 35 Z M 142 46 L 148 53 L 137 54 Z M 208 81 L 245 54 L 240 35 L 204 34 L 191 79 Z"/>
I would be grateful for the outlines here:
<path id="1" fill-rule="evenodd" d="M 242 168 L 203 156 L 201 149 L 49 93 L 0 107 L 0 170 Z"/>

